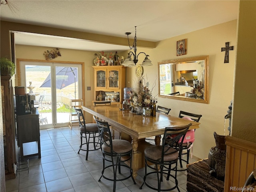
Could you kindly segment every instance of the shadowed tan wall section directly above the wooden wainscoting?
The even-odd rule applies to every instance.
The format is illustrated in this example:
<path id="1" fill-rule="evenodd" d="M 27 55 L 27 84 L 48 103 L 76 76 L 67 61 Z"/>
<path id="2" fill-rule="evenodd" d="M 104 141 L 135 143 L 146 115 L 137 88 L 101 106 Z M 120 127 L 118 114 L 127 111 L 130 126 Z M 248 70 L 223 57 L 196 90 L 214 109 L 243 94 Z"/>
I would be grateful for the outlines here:
<path id="1" fill-rule="evenodd" d="M 240 1 L 232 136 L 256 143 L 256 1 Z"/>

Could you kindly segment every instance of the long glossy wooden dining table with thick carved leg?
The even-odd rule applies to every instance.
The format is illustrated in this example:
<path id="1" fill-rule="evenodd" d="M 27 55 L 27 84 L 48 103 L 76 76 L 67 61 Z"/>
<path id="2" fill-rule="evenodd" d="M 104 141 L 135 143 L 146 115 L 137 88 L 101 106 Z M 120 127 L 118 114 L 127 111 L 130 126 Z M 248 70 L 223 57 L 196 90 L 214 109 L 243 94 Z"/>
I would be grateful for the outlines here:
<path id="1" fill-rule="evenodd" d="M 118 131 L 121 139 L 132 142 L 132 169 L 136 178 L 139 168 L 144 166 L 144 148 L 151 145 L 145 138 L 155 136 L 155 144 L 160 144 L 161 135 L 166 127 L 183 126 L 192 123 L 189 129 L 199 128 L 199 122 L 189 121 L 175 116 L 156 113 L 156 116 L 144 116 L 131 113 L 129 110 L 120 110 L 119 105 L 83 106 L 88 112 L 108 122 Z M 128 136 L 128 137 L 127 137 Z"/>

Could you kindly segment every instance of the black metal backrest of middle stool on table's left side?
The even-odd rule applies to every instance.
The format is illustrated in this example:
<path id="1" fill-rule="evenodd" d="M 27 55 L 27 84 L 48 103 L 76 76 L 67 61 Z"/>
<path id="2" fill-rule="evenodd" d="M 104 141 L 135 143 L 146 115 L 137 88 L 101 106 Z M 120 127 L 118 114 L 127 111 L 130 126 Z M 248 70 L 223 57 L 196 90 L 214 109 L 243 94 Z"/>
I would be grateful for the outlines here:
<path id="1" fill-rule="evenodd" d="M 99 120 L 96 116 L 93 116 L 97 126 L 98 126 L 98 130 L 99 130 L 99 134 L 100 134 L 100 148 L 102 150 L 102 145 L 104 145 L 104 147 L 109 147 L 109 150 L 104 150 L 104 152 L 108 153 L 108 155 L 112 156 L 113 152 L 113 148 L 112 148 L 112 135 L 111 135 L 111 131 L 109 128 L 109 124 L 106 121 L 101 121 Z"/>

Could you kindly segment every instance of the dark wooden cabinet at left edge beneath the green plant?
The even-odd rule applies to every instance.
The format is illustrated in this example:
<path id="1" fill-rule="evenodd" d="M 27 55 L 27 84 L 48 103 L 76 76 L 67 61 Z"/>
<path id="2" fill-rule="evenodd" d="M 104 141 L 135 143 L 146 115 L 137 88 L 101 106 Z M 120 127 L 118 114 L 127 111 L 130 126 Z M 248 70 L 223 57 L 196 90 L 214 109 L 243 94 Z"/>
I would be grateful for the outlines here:
<path id="1" fill-rule="evenodd" d="M 1 76 L 2 115 L 4 134 L 4 167 L 5 179 L 16 177 L 16 142 L 15 115 L 13 101 L 13 87 L 11 76 Z"/>

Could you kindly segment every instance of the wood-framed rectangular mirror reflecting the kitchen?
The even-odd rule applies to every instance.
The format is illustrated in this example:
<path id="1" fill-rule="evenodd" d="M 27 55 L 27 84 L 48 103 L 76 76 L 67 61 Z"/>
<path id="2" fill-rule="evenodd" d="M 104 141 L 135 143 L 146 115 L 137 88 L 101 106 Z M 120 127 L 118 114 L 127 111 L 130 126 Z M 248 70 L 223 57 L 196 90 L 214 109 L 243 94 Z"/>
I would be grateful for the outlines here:
<path id="1" fill-rule="evenodd" d="M 158 62 L 159 97 L 208 103 L 209 56 Z"/>

